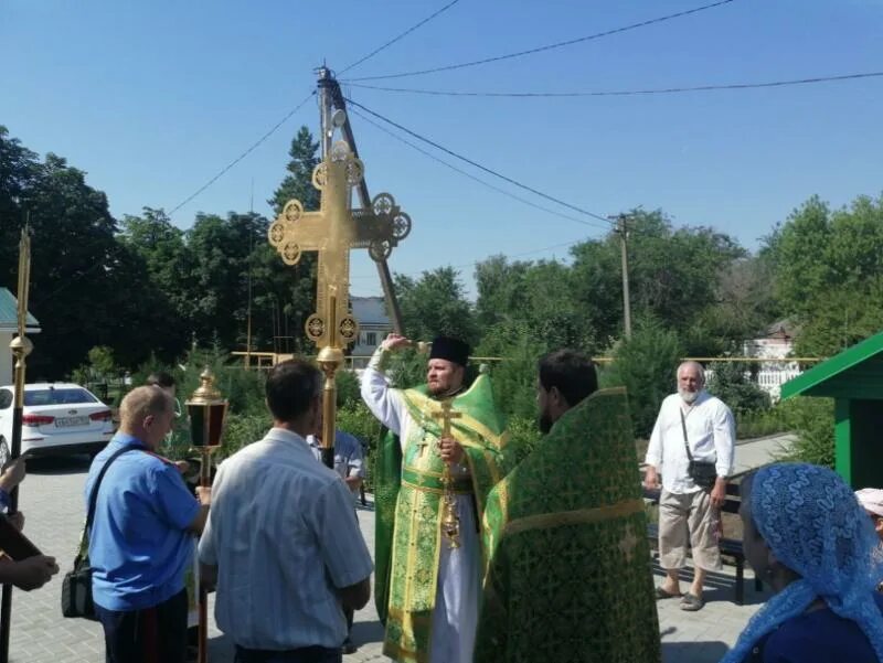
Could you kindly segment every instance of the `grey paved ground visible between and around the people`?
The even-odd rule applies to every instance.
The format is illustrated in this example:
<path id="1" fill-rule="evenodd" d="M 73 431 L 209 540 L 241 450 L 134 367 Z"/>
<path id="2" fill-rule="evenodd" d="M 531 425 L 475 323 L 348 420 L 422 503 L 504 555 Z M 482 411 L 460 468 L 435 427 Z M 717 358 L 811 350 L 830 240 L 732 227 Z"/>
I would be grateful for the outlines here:
<path id="1" fill-rule="evenodd" d="M 740 467 L 746 462 L 768 461 L 780 439 L 772 438 L 740 446 Z M 21 510 L 26 516 L 25 533 L 46 554 L 55 555 L 62 573 L 71 568 L 79 532 L 85 520 L 83 484 L 88 463 L 85 458 L 46 459 L 32 462 L 21 489 Z M 359 511 L 362 532 L 373 550 L 374 514 Z M 709 579 L 709 605 L 698 613 L 678 609 L 677 602 L 660 601 L 659 621 L 666 663 L 715 663 L 732 645 L 747 619 L 765 595 L 756 596 L 746 582 L 746 605 L 733 602 L 733 570 Z M 655 569 L 657 576 L 661 571 Z M 746 571 L 751 578 L 751 571 Z M 100 663 L 104 646 L 100 627 L 79 619 L 64 619 L 60 608 L 61 576 L 33 592 L 14 591 L 10 659 L 15 663 Z M 211 606 L 210 606 L 211 614 Z M 230 642 L 214 628 L 211 630 L 210 661 L 232 663 Z M 383 631 L 373 603 L 357 613 L 353 640 L 359 651 L 344 656 L 347 663 L 380 663 Z M 538 662 L 542 663 L 542 662 Z M 636 662 L 641 663 L 641 662 Z"/>

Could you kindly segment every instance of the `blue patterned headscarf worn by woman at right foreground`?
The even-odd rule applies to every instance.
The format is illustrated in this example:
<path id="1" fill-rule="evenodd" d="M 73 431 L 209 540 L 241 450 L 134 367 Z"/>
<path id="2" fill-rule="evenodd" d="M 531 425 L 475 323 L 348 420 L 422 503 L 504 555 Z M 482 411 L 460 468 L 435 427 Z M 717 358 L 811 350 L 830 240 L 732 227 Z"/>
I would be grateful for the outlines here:
<path id="1" fill-rule="evenodd" d="M 721 663 L 741 663 L 760 638 L 817 598 L 858 623 L 883 660 L 883 617 L 872 596 L 879 539 L 843 480 L 818 466 L 767 466 L 754 475 L 751 513 L 776 558 L 800 578 L 755 613 Z"/>

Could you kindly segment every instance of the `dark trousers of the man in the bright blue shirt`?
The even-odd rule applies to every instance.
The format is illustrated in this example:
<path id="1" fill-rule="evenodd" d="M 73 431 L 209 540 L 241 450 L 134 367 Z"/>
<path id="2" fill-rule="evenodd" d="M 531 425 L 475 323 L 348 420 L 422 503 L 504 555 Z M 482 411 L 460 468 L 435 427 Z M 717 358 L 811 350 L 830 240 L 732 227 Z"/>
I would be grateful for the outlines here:
<path id="1" fill-rule="evenodd" d="M 132 611 L 95 606 L 104 627 L 106 663 L 184 663 L 187 590 L 152 608 Z"/>

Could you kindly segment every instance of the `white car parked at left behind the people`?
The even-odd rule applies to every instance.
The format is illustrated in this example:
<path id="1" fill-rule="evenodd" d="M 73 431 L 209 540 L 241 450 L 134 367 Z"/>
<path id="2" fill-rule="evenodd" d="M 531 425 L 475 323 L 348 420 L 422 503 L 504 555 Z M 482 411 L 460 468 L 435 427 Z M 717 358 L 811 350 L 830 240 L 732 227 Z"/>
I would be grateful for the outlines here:
<path id="1" fill-rule="evenodd" d="M 0 387 L 0 460 L 12 447 L 13 387 Z M 21 452 L 97 453 L 114 435 L 110 408 L 72 383 L 24 385 Z"/>

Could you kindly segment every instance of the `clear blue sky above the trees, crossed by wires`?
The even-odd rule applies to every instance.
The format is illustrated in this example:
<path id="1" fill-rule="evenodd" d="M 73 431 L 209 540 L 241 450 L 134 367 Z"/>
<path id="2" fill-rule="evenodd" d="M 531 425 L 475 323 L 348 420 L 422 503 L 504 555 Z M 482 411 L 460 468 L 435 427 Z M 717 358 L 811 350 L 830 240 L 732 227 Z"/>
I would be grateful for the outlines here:
<path id="1" fill-rule="evenodd" d="M 0 0 L 0 125 L 35 152 L 87 173 L 121 218 L 171 211 L 253 147 L 316 87 L 450 0 Z M 339 75 L 353 100 L 469 159 L 602 217 L 661 208 L 675 227 L 711 226 L 756 249 L 811 195 L 832 206 L 883 191 L 883 77 L 670 95 L 487 98 L 394 93 L 566 93 L 763 83 L 883 71 L 883 0 L 733 0 L 690 15 L 481 66 L 359 77 L 481 60 L 573 40 L 713 0 L 459 0 Z M 351 83 L 345 83 L 351 81 Z M 434 152 L 465 178 L 350 119 L 372 195 L 413 220 L 394 272 L 453 265 L 475 293 L 476 261 L 566 259 L 604 222 Z M 374 120 L 377 121 L 377 120 Z M 254 210 L 285 177 L 310 98 L 172 214 Z M 401 135 L 397 129 L 387 127 Z M 414 141 L 413 138 L 408 140 Z M 677 259 L 677 257 L 673 257 Z M 380 295 L 365 252 L 351 291 Z"/>

